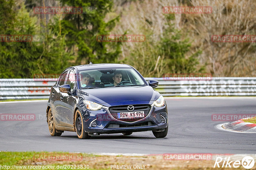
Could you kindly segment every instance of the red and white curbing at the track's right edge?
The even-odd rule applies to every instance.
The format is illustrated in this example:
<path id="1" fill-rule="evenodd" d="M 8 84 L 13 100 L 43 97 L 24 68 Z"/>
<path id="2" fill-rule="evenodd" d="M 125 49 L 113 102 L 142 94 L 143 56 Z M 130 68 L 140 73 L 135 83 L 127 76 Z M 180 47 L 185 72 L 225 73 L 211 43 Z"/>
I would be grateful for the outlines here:
<path id="1" fill-rule="evenodd" d="M 249 119 L 244 118 L 244 119 Z M 242 132 L 242 133 L 256 133 L 256 124 L 244 122 L 243 119 L 239 119 L 234 122 L 222 124 L 221 127 L 223 130 L 233 131 L 233 132 Z"/>

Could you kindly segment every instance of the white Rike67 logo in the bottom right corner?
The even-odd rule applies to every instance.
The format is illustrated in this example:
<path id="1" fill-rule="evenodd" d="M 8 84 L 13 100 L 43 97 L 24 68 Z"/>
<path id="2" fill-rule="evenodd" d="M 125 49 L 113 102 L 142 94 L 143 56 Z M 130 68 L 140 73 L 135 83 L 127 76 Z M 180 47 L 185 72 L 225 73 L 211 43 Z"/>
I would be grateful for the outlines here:
<path id="1" fill-rule="evenodd" d="M 223 161 L 222 165 L 221 165 L 221 162 Z M 254 159 L 251 157 L 251 156 L 245 156 L 243 159 L 242 159 L 242 162 L 240 160 L 230 160 L 230 157 L 225 157 L 224 159 L 221 158 L 221 157 L 217 157 L 216 160 L 215 160 L 215 163 L 214 163 L 214 168 L 217 166 L 218 168 L 219 167 L 222 167 L 222 168 L 231 168 L 232 166 L 234 168 L 238 168 L 239 166 L 242 166 L 245 168 L 245 169 L 251 169 L 253 166 L 254 166 Z"/>

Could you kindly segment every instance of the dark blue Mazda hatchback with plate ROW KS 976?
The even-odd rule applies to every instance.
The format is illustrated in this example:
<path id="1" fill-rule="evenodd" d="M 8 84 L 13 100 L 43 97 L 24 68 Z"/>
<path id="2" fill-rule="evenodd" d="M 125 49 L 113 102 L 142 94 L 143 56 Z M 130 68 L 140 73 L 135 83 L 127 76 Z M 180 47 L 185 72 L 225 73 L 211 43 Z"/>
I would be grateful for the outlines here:
<path id="1" fill-rule="evenodd" d="M 152 131 L 168 132 L 164 97 L 149 80 L 126 64 L 88 64 L 68 67 L 52 86 L 46 117 L 52 136 L 64 131 L 78 138 L 92 135 Z"/>

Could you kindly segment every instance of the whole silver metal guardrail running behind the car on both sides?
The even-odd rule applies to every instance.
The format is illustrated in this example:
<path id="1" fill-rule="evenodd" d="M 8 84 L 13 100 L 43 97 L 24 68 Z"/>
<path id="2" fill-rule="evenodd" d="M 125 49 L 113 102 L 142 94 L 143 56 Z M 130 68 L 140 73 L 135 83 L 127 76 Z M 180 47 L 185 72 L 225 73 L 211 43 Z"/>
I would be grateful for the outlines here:
<path id="1" fill-rule="evenodd" d="M 256 96 L 256 77 L 212 77 L 212 80 L 158 80 L 163 96 Z M 189 79 L 189 78 L 188 78 Z M 0 79 L 0 99 L 49 98 L 57 79 Z"/>

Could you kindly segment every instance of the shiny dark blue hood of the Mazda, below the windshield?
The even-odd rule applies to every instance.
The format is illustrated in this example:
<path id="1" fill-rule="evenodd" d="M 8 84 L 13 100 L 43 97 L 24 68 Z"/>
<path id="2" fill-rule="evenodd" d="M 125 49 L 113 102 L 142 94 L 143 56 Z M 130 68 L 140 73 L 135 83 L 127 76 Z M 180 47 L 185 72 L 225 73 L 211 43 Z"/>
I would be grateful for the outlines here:
<path id="1" fill-rule="evenodd" d="M 111 87 L 101 89 L 82 89 L 90 100 L 104 106 L 125 104 L 152 104 L 160 94 L 150 86 Z"/>

